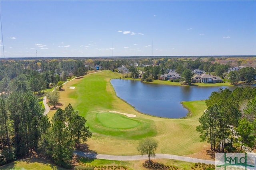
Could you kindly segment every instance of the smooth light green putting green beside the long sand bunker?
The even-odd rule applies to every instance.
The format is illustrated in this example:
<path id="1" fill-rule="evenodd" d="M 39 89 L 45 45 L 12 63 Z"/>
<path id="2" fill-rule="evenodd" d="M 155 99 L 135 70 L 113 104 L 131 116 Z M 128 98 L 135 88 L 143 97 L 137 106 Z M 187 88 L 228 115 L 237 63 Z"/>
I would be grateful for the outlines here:
<path id="1" fill-rule="evenodd" d="M 141 123 L 116 113 L 97 113 L 97 121 L 104 127 L 128 129 L 138 127 Z"/>

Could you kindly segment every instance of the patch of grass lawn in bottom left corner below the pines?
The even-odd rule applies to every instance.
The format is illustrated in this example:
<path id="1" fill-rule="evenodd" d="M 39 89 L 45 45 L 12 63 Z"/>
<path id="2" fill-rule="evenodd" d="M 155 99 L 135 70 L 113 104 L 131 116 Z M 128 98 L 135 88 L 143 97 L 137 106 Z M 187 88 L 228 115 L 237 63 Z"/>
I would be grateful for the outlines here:
<path id="1" fill-rule="evenodd" d="M 1 166 L 1 170 L 66 170 L 42 158 L 27 158 Z"/>

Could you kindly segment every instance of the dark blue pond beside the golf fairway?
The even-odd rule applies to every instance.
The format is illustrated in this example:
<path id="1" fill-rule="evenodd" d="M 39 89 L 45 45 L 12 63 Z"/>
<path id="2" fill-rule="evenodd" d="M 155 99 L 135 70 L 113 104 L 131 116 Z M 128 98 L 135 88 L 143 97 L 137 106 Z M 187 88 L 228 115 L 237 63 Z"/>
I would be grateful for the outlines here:
<path id="1" fill-rule="evenodd" d="M 220 88 L 236 87 L 214 86 L 214 87 L 190 87 L 159 85 L 143 83 L 136 80 L 112 79 L 112 86 L 116 95 L 136 110 L 157 117 L 181 118 L 185 117 L 188 110 L 180 102 L 205 100 L 213 91 Z"/>

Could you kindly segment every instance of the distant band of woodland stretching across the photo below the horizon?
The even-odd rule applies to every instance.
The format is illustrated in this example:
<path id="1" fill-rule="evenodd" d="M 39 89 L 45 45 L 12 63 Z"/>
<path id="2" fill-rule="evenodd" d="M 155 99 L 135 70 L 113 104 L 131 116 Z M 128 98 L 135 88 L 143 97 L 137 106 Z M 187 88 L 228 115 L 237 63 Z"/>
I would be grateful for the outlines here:
<path id="1" fill-rule="evenodd" d="M 39 92 L 56 85 L 58 81 L 66 81 L 68 77 L 81 76 L 88 70 L 95 69 L 95 65 L 102 69 L 116 71 L 118 67 L 126 66 L 132 71 L 132 77 L 138 77 L 140 71 L 148 71 L 148 76 L 152 79 L 158 79 L 168 69 L 175 69 L 177 73 L 182 74 L 185 69 L 200 69 L 227 79 L 231 83 L 246 81 L 250 83 L 255 76 L 255 69 L 244 69 L 242 74 L 234 72 L 228 75 L 228 69 L 233 66 L 242 66 L 246 60 L 239 58 L 237 61 L 226 61 L 227 58 L 176 58 L 176 57 L 131 57 L 131 58 L 44 58 L 44 59 L 2 59 L 0 62 L 0 91 L 14 91 L 15 88 L 26 88 L 33 92 Z M 250 58 L 249 58 L 250 59 Z M 255 61 L 248 61 L 253 65 Z M 142 68 L 142 66 L 149 65 Z M 254 64 L 255 65 L 255 64 Z M 154 66 L 154 67 L 153 67 Z M 241 72 L 241 71 L 240 71 Z M 250 75 L 246 78 L 246 75 Z M 147 76 L 147 77 L 148 77 Z M 23 82 L 23 85 L 20 83 Z"/>

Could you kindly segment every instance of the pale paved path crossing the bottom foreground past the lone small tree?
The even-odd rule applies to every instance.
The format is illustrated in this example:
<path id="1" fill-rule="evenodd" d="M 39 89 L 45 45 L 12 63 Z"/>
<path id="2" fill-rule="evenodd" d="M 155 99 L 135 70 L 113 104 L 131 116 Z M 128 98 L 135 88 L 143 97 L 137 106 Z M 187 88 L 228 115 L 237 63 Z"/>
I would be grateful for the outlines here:
<path id="1" fill-rule="evenodd" d="M 147 155 L 134 155 L 134 156 L 115 156 L 115 155 L 104 155 L 104 154 L 94 154 L 89 152 L 82 152 L 75 150 L 74 154 L 82 157 L 88 158 L 97 158 L 97 159 L 106 159 L 106 160 L 143 160 L 148 159 Z M 198 158 L 190 158 L 186 156 L 178 156 L 178 155 L 171 155 L 171 154 L 156 154 L 154 158 L 165 158 L 165 159 L 174 159 L 174 160 L 181 160 L 186 162 L 193 162 L 193 163 L 205 163 L 205 164 L 214 164 L 214 160 L 204 160 Z"/>

